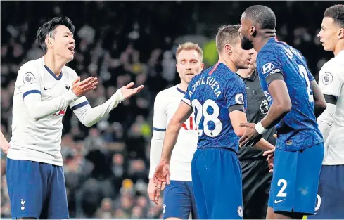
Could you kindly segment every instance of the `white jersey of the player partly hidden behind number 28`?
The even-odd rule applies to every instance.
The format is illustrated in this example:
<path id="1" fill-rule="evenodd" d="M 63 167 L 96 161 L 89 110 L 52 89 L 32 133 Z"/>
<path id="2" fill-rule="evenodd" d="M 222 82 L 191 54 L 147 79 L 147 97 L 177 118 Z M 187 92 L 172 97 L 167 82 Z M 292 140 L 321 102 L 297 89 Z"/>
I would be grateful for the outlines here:
<path id="1" fill-rule="evenodd" d="M 167 124 L 170 122 L 174 112 L 176 112 L 183 97 L 184 91 L 181 91 L 177 85 L 160 91 L 155 98 L 153 137 L 151 143 L 151 167 L 149 172 L 150 178 L 153 177 L 155 167 L 160 160 Z M 193 153 L 196 151 L 197 142 L 197 127 L 194 113 L 192 113 L 189 119 L 186 119 L 186 122 L 182 125 L 177 143 L 172 151 L 170 162 L 171 180 L 191 181 L 191 160 Z M 156 153 L 152 154 L 152 150 L 155 150 Z"/>

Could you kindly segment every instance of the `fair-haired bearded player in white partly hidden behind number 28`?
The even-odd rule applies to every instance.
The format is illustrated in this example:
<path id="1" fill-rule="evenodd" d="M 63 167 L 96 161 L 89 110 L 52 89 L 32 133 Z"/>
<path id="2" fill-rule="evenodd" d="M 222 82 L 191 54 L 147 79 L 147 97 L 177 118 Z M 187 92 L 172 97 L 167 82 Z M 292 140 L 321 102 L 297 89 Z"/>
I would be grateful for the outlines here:
<path id="1" fill-rule="evenodd" d="M 177 72 L 181 83 L 160 91 L 155 98 L 153 116 L 153 137 L 151 140 L 150 171 L 148 195 L 153 202 L 158 202 L 160 190 L 164 186 L 155 186 L 153 174 L 160 160 L 167 124 L 184 97 L 187 86 L 193 76 L 198 75 L 204 64 L 203 51 L 198 44 L 186 42 L 177 48 Z M 191 160 L 198 141 L 194 115 L 184 122 L 179 132 L 176 146 L 171 158 L 171 181 L 163 192 L 163 218 L 198 219 L 196 203 L 193 198 L 191 181 Z"/>

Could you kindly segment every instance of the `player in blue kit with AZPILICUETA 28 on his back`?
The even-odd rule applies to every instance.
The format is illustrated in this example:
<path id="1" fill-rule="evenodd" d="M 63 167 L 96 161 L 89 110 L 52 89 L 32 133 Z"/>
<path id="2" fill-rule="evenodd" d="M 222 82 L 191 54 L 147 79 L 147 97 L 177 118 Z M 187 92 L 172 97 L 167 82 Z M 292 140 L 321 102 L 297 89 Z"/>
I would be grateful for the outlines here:
<path id="1" fill-rule="evenodd" d="M 168 124 L 163 153 L 153 179 L 158 188 L 170 183 L 170 158 L 181 125 L 195 112 L 198 145 L 191 163 L 193 191 L 200 219 L 242 219 L 243 195 L 238 140 L 245 132 L 246 87 L 236 75 L 248 68 L 252 51 L 241 48 L 238 25 L 219 28 L 219 61 L 193 77 L 179 108 Z M 263 138 L 260 150 L 273 145 Z"/>

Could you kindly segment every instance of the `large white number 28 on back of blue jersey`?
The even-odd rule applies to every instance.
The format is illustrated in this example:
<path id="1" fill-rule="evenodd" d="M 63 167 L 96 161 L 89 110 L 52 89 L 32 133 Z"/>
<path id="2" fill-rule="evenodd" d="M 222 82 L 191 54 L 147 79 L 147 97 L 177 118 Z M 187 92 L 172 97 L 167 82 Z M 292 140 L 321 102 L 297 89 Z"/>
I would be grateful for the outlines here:
<path id="1" fill-rule="evenodd" d="M 219 120 L 219 106 L 215 103 L 215 101 L 212 101 L 211 99 L 207 99 L 205 103 L 200 104 L 200 102 L 197 99 L 193 99 L 192 101 L 193 111 L 197 110 L 197 117 L 196 117 L 196 126 L 199 127 L 200 119 L 204 116 L 203 120 L 203 132 L 205 135 L 210 137 L 218 136 L 221 133 L 222 130 L 222 123 Z M 209 114 L 207 112 L 208 107 L 212 108 L 212 114 Z M 210 130 L 208 127 L 208 122 L 212 122 L 215 124 L 215 129 Z"/>

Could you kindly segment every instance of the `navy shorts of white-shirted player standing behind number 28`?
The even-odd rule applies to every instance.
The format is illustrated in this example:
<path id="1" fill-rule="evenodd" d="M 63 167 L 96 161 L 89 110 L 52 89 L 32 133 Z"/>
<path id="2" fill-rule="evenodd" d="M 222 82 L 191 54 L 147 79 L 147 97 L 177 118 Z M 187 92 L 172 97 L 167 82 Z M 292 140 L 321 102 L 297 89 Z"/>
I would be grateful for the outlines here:
<path id="1" fill-rule="evenodd" d="M 189 219 L 190 214 L 192 219 L 198 219 L 192 182 L 170 181 L 164 190 L 163 203 L 164 219 Z"/>

